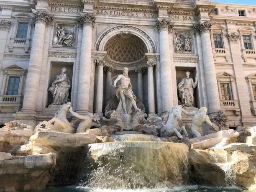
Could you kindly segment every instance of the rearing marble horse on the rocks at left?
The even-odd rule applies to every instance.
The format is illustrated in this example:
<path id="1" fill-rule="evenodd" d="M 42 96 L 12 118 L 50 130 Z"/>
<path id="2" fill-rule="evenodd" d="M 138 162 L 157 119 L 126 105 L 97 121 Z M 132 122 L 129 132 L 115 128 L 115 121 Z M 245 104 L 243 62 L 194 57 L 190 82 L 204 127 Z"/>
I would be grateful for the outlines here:
<path id="1" fill-rule="evenodd" d="M 69 110 L 70 105 L 70 102 L 63 104 L 55 113 L 54 118 L 46 123 L 45 128 L 54 129 L 64 133 L 76 133 L 76 129 L 73 127 L 73 124 L 69 123 L 67 120 L 67 110 Z M 52 123 L 54 123 L 54 125 Z"/>

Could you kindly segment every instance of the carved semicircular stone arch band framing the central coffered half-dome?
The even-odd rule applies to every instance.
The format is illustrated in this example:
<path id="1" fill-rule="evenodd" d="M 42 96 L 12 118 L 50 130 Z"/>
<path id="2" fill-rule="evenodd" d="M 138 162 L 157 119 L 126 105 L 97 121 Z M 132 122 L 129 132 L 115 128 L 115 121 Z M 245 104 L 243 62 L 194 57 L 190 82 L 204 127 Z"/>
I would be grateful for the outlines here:
<path id="1" fill-rule="evenodd" d="M 140 28 L 137 28 L 134 26 L 128 26 L 128 25 L 110 27 L 102 31 L 102 33 L 100 33 L 95 43 L 95 49 L 97 51 L 104 51 L 105 45 L 108 42 L 108 40 L 111 37 L 118 35 L 121 32 L 128 32 L 135 36 L 138 36 L 145 43 L 148 53 L 156 52 L 156 45 L 154 44 L 154 41 L 146 31 L 143 31 Z"/>

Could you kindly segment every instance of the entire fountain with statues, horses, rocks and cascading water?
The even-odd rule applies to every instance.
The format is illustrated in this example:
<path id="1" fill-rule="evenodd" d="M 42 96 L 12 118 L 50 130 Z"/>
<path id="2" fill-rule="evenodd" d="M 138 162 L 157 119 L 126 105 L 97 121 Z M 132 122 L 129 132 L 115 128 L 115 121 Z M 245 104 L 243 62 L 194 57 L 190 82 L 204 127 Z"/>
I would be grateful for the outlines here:
<path id="1" fill-rule="evenodd" d="M 49 87 L 59 107 L 51 120 L 35 128 L 11 121 L 0 130 L 1 191 L 255 189 L 256 127 L 228 129 L 223 111 L 209 118 L 207 108 L 195 108 L 197 77 L 189 72 L 177 86 L 180 105 L 159 117 L 145 113 L 124 68 L 100 117 L 74 112 L 66 71 Z"/>

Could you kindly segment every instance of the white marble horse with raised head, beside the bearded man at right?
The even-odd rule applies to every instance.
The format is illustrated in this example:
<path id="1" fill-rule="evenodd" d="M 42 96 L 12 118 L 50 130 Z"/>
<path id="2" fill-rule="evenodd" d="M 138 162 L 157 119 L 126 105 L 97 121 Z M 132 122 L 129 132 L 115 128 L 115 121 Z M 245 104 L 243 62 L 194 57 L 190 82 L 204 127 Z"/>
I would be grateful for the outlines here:
<path id="1" fill-rule="evenodd" d="M 180 139 L 183 138 L 181 133 L 188 138 L 187 131 L 182 123 L 182 106 L 177 105 L 172 107 L 167 113 L 166 116 L 166 124 L 160 130 L 161 137 L 170 137 L 175 133 Z"/>

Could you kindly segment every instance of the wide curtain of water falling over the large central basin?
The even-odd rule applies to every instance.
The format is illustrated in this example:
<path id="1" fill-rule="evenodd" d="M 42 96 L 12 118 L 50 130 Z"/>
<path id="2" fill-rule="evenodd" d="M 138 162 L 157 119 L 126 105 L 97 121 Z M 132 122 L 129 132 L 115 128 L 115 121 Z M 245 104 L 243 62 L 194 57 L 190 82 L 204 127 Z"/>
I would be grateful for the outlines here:
<path id="1" fill-rule="evenodd" d="M 187 145 L 165 142 L 90 144 L 80 186 L 142 189 L 188 184 Z"/>

